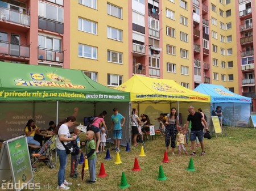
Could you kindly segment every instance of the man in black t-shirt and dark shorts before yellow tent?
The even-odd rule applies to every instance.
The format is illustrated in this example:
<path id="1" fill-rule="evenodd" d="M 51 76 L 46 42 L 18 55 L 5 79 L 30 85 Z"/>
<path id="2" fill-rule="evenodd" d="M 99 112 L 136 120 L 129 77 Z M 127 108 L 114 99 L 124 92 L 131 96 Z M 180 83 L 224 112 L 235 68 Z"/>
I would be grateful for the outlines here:
<path id="1" fill-rule="evenodd" d="M 208 126 L 207 122 L 205 121 L 204 117 L 202 116 L 201 113 L 195 112 L 195 108 L 190 105 L 188 107 L 188 118 L 187 118 L 187 123 L 185 125 L 186 128 L 188 128 L 189 121 L 191 121 L 191 133 L 190 133 L 190 141 L 191 141 L 191 146 L 192 146 L 192 154 L 191 156 L 196 155 L 196 147 L 195 147 L 195 142 L 196 142 L 196 137 L 199 139 L 201 148 L 202 148 L 202 153 L 201 156 L 205 155 L 205 150 L 204 150 L 204 126 L 202 125 L 202 122 L 205 125 L 205 130 L 208 131 Z"/>

